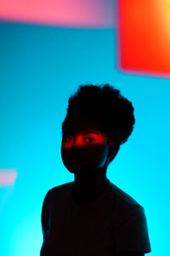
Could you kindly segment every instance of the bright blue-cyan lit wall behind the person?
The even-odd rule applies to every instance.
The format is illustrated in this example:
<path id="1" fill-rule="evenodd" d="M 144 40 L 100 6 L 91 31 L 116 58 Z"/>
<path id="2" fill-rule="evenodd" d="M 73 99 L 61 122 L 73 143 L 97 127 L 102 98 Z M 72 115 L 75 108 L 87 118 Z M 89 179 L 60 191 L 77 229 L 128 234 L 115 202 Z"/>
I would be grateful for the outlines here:
<path id="1" fill-rule="evenodd" d="M 107 177 L 144 207 L 152 256 L 170 255 L 170 81 L 125 74 L 114 28 L 0 23 L 0 255 L 37 256 L 48 189 L 74 180 L 60 157 L 61 122 L 79 84 L 110 83 L 133 102 L 136 125 Z"/>

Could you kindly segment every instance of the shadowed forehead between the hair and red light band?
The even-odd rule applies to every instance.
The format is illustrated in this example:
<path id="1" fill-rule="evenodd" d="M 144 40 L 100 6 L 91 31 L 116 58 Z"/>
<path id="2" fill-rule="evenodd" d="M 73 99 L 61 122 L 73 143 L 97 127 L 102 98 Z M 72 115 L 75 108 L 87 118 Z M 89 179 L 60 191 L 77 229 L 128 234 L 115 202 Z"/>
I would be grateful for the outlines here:
<path id="1" fill-rule="evenodd" d="M 99 131 L 105 133 L 99 120 L 80 114 L 75 114 L 67 121 L 64 133 L 78 133 L 84 131 Z"/>

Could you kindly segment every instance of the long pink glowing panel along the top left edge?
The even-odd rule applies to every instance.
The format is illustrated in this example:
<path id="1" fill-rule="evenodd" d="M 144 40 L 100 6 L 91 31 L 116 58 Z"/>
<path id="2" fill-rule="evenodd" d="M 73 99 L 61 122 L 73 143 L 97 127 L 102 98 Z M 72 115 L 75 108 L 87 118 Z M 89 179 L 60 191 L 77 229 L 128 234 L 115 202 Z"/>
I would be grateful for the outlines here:
<path id="1" fill-rule="evenodd" d="M 2 0 L 0 19 L 56 26 L 113 26 L 112 0 Z"/>

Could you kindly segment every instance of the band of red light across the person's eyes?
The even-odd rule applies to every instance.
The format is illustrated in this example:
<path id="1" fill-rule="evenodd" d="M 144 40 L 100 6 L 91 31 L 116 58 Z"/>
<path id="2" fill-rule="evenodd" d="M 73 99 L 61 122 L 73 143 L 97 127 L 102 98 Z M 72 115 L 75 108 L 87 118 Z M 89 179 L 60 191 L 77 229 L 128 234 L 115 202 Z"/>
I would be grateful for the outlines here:
<path id="1" fill-rule="evenodd" d="M 93 144 L 102 144 L 107 142 L 107 137 L 99 131 L 86 131 L 77 135 L 65 134 L 62 139 L 62 148 L 84 147 Z"/>

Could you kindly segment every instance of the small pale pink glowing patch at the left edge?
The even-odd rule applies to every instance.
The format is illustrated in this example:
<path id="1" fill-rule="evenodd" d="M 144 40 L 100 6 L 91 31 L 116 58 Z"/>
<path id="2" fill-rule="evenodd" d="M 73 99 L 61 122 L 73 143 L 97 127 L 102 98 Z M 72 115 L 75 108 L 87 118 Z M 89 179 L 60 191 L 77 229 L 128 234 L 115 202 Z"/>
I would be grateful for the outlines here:
<path id="1" fill-rule="evenodd" d="M 0 186 L 13 185 L 17 172 L 15 169 L 0 169 Z"/>

